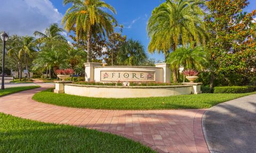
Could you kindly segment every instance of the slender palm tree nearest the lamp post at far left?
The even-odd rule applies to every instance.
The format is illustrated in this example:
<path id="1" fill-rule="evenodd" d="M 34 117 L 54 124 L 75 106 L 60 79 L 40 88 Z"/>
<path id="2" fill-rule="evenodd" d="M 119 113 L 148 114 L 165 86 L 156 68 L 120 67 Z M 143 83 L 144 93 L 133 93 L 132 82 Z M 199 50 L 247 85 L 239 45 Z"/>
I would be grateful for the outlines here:
<path id="1" fill-rule="evenodd" d="M 27 58 L 32 58 L 32 53 L 36 52 L 35 38 L 30 36 L 25 36 L 21 38 L 17 38 L 14 40 L 16 42 L 15 47 L 9 49 L 9 54 L 13 54 L 15 50 L 19 50 L 19 58 L 22 56 L 25 57 L 25 66 L 28 74 L 28 79 L 30 79 L 28 60 Z"/>

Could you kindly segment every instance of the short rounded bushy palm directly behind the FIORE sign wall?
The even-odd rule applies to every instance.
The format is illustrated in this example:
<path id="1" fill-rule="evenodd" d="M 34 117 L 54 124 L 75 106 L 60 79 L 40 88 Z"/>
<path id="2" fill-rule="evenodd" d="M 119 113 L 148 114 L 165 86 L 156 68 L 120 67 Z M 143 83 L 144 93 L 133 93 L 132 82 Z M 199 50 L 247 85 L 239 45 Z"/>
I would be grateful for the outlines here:
<path id="1" fill-rule="evenodd" d="M 144 47 L 139 43 L 139 41 L 129 39 L 119 49 L 117 58 L 120 65 L 131 66 L 145 63 L 147 60 L 147 55 L 145 53 Z"/>

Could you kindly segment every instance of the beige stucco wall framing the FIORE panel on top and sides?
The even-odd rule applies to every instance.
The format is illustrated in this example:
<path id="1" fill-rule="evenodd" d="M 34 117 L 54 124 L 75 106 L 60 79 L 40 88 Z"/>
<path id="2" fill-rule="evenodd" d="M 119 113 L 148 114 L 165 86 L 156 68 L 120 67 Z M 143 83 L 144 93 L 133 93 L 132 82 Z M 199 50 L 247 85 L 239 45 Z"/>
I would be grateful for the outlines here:
<path id="1" fill-rule="evenodd" d="M 127 71 L 127 72 L 137 72 L 137 71 L 154 71 L 156 82 L 165 82 L 163 77 L 162 67 L 151 67 L 151 66 L 97 66 L 94 67 L 94 81 L 100 82 L 100 71 Z M 122 80 L 121 80 L 122 81 Z"/>

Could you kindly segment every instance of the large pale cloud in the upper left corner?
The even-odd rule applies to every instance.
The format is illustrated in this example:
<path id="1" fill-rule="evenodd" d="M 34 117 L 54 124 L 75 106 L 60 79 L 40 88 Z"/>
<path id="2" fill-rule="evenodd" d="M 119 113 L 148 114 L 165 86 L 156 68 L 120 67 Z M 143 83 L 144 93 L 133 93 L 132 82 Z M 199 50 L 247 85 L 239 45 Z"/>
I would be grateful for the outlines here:
<path id="1" fill-rule="evenodd" d="M 62 14 L 49 0 L 2 0 L 0 5 L 0 31 L 10 35 L 33 35 L 44 32 L 52 23 L 59 23 Z"/>

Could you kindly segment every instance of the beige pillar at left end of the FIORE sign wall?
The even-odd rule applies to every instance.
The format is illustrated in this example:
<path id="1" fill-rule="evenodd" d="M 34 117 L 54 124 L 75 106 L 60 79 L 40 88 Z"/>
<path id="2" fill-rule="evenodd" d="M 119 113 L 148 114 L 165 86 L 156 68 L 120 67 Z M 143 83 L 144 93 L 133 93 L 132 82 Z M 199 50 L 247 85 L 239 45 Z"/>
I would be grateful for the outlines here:
<path id="1" fill-rule="evenodd" d="M 101 66 L 100 63 L 84 63 L 85 66 L 85 81 L 93 82 L 94 81 L 94 67 Z"/>

